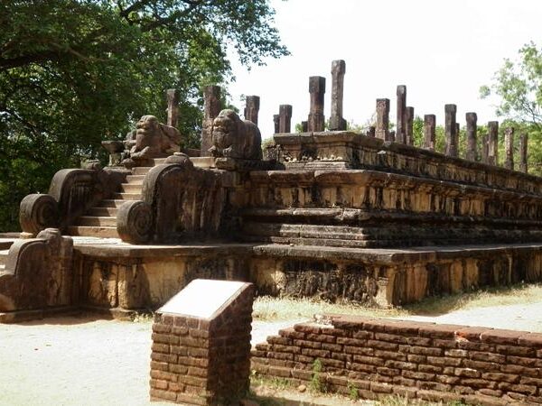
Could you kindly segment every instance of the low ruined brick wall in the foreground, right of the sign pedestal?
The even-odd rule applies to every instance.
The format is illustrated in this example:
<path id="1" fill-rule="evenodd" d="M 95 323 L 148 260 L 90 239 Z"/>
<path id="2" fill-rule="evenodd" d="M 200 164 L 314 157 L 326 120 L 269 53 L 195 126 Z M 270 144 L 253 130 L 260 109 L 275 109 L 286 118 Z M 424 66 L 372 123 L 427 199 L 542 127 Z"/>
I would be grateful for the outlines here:
<path id="1" fill-rule="evenodd" d="M 297 324 L 252 351 L 252 369 L 378 399 L 542 404 L 542 334 L 335 316 Z M 316 373 L 314 363 L 322 370 Z"/>

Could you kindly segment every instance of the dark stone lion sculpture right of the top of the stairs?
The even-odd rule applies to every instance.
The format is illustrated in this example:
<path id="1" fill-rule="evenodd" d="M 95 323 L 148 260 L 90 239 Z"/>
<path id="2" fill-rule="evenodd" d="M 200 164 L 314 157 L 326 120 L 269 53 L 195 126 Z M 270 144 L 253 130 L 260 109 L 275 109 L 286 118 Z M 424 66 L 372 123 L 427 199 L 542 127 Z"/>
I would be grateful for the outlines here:
<path id="1" fill-rule="evenodd" d="M 222 110 L 213 120 L 210 154 L 215 158 L 262 159 L 262 136 L 257 125 L 241 120 L 233 110 Z"/>

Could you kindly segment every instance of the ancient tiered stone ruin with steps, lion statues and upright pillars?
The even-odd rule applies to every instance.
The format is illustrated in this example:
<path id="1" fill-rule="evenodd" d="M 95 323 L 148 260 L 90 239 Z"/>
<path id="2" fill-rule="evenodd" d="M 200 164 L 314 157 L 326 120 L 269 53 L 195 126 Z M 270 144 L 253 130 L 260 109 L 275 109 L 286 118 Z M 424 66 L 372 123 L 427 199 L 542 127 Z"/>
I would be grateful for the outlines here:
<path id="1" fill-rule="evenodd" d="M 542 280 L 542 179 L 527 173 L 526 136 L 514 157 L 507 130 L 500 160 L 498 123 L 478 151 L 478 117 L 468 113 L 463 157 L 447 104 L 445 151 L 432 114 L 416 147 L 405 86 L 395 131 L 388 98 L 367 133 L 349 131 L 345 72 L 332 63 L 331 130 L 326 79 L 312 77 L 304 131 L 292 133 L 293 106 L 279 106 L 264 154 L 259 97 L 247 97 L 242 119 L 220 109 L 220 88 L 206 88 L 193 150 L 175 129 L 169 91 L 167 124 L 145 115 L 125 140 L 104 142 L 107 166 L 59 171 L 49 193 L 23 199 L 24 239 L 0 241 L 1 319 L 157 309 L 197 278 L 370 306 Z"/>

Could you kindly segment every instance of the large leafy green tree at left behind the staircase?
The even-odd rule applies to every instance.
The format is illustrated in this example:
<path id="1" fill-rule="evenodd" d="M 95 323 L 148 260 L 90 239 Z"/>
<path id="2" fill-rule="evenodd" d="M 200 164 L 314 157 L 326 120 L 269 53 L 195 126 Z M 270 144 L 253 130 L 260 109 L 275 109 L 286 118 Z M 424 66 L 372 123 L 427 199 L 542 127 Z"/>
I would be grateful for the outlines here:
<path id="1" fill-rule="evenodd" d="M 0 231 L 55 171 L 140 115 L 164 120 L 166 88 L 197 146 L 201 89 L 227 83 L 228 50 L 248 66 L 288 53 L 273 16 L 267 0 L 0 0 Z"/>

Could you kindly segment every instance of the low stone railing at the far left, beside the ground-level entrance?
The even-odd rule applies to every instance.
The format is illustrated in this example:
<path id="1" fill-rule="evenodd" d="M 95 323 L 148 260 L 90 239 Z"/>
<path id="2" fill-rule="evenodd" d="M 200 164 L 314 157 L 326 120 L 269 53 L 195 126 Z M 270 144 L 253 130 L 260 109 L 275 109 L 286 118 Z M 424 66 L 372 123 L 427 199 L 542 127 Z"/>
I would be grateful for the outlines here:
<path id="1" fill-rule="evenodd" d="M 0 272 L 0 312 L 69 306 L 72 248 L 71 238 L 53 228 L 16 240 Z"/>

